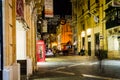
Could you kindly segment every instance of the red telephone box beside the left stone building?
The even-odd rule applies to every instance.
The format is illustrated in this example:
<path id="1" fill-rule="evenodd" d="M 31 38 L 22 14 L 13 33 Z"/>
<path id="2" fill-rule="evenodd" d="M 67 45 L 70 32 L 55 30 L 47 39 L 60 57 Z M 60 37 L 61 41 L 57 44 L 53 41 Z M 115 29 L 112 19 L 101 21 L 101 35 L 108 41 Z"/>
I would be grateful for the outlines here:
<path id="1" fill-rule="evenodd" d="M 36 56 L 37 62 L 44 62 L 45 61 L 45 43 L 43 40 L 38 40 L 36 43 Z"/>

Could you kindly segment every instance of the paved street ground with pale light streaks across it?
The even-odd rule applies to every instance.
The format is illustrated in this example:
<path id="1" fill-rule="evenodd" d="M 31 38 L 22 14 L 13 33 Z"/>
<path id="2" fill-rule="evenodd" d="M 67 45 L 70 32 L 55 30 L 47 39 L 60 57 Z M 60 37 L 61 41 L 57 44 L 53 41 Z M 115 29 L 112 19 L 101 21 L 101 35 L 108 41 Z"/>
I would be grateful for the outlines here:
<path id="1" fill-rule="evenodd" d="M 58 56 L 38 63 L 29 80 L 120 80 L 120 61 L 99 61 L 87 56 Z"/>

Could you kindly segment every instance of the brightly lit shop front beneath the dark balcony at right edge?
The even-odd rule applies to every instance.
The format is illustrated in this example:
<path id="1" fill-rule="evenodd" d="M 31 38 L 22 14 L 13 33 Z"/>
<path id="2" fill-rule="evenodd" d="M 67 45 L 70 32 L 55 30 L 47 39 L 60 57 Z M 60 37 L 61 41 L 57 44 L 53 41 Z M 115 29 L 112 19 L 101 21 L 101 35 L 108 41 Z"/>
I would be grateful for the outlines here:
<path id="1" fill-rule="evenodd" d="M 108 57 L 120 58 L 120 26 L 107 30 Z"/>

